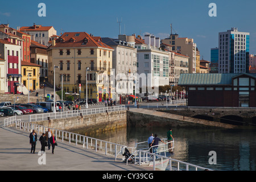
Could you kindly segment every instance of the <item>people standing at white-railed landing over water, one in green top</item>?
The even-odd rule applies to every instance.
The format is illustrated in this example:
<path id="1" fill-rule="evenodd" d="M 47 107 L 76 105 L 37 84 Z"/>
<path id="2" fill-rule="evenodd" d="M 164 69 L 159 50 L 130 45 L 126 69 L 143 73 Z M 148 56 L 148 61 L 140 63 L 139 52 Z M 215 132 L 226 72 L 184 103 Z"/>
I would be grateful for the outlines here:
<path id="1" fill-rule="evenodd" d="M 170 152 L 170 154 L 173 154 L 173 148 L 172 148 L 172 141 L 174 140 L 174 137 L 172 137 L 172 129 L 169 129 L 167 132 L 167 141 L 168 141 L 168 151 Z M 163 140 L 161 140 L 160 138 L 158 138 L 158 135 L 151 133 L 151 136 L 148 137 L 147 143 L 148 143 L 148 147 L 150 148 L 150 152 L 151 153 L 157 153 L 158 152 L 158 145 L 159 142 L 162 142 L 164 144 L 166 144 L 166 142 L 163 142 Z M 156 159 L 158 157 L 156 156 Z"/>

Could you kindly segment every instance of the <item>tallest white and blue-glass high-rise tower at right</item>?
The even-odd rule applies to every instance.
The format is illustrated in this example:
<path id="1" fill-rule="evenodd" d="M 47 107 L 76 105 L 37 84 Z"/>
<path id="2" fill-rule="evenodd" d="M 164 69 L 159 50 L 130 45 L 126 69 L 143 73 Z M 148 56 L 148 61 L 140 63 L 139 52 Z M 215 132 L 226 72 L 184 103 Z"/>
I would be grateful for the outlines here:
<path id="1" fill-rule="evenodd" d="M 218 72 L 249 73 L 250 34 L 231 28 L 218 33 Z"/>

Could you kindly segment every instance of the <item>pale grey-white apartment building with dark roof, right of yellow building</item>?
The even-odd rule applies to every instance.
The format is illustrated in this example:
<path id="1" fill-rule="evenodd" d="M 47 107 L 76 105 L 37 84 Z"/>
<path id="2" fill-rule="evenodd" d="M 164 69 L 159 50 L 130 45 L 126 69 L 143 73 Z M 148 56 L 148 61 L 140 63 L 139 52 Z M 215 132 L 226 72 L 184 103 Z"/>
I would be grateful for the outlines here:
<path id="1" fill-rule="evenodd" d="M 118 39 L 102 38 L 102 42 L 112 47 L 112 68 L 115 78 L 113 99 L 119 102 L 125 94 L 134 95 L 134 80 L 137 73 L 137 49 L 134 36 L 119 35 Z"/>

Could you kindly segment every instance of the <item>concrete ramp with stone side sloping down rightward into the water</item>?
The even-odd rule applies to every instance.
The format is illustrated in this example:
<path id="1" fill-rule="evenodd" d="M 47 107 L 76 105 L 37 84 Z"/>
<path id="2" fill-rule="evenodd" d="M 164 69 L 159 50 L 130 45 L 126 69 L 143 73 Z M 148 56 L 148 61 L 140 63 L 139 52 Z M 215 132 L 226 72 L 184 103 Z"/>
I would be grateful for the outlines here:
<path id="1" fill-rule="evenodd" d="M 149 109 L 132 109 L 127 110 L 127 125 L 130 126 L 168 126 L 168 127 L 222 127 L 225 129 L 234 129 L 237 126 L 220 122 L 207 121 L 182 115 L 164 113 Z"/>

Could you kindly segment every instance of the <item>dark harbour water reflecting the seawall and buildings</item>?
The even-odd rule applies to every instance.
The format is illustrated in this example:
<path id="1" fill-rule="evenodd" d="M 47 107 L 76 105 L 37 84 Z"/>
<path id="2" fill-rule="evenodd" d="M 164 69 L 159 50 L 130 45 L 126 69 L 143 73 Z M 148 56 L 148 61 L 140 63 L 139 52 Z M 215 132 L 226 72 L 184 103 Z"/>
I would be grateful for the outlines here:
<path id="1" fill-rule="evenodd" d="M 151 133 L 167 138 L 167 131 L 168 128 L 163 127 L 123 128 L 89 137 L 133 147 L 136 142 L 146 141 Z M 82 131 L 77 132 L 82 134 Z M 214 170 L 256 170 L 255 130 L 173 128 L 172 136 L 175 139 L 174 159 Z M 210 151 L 216 152 L 217 164 L 209 164 Z"/>

